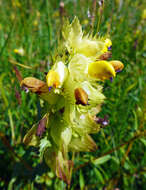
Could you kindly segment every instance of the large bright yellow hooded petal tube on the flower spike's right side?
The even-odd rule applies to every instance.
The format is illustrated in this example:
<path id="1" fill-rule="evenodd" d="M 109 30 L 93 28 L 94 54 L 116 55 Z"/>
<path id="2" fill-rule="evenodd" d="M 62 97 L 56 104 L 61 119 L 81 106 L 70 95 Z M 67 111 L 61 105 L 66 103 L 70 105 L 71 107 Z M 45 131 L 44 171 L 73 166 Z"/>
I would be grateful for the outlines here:
<path id="1" fill-rule="evenodd" d="M 88 74 L 90 77 L 100 80 L 115 77 L 114 67 L 108 61 L 96 61 L 88 66 Z"/>

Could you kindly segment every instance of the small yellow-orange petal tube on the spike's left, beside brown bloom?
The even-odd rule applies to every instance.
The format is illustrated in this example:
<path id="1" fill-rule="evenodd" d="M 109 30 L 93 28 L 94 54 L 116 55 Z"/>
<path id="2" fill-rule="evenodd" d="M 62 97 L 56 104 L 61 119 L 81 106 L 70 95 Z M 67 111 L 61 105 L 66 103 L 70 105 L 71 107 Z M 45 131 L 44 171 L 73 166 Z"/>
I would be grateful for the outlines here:
<path id="1" fill-rule="evenodd" d="M 57 88 L 60 85 L 60 77 L 56 71 L 50 70 L 46 76 L 48 87 Z"/>

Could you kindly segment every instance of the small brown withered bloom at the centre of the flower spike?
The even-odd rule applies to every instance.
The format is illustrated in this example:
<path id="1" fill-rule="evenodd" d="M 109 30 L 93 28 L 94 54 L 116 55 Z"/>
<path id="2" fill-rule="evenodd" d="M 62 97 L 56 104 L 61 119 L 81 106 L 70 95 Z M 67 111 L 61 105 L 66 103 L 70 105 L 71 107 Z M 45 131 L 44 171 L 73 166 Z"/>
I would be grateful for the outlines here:
<path id="1" fill-rule="evenodd" d="M 74 91 L 76 104 L 87 105 L 88 104 L 88 94 L 82 88 L 76 88 Z"/>

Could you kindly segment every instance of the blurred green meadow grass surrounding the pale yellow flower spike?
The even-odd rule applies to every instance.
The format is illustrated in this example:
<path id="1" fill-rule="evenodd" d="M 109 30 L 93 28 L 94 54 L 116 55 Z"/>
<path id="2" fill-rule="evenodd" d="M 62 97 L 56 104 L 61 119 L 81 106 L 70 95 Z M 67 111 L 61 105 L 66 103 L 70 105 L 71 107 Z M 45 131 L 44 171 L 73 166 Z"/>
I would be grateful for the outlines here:
<path id="1" fill-rule="evenodd" d="M 110 35 L 112 59 L 121 60 L 125 68 L 104 84 L 107 99 L 100 115 L 108 115 L 110 124 L 93 136 L 96 152 L 76 155 L 70 189 L 144 189 L 145 4 L 105 0 L 102 8 L 102 2 L 0 0 L 0 189 L 67 189 L 40 161 L 39 151 L 22 143 L 27 130 L 39 121 L 43 105 L 36 95 L 21 90 L 18 78 L 20 72 L 22 77 L 45 80 L 63 17 L 71 21 L 75 15 L 86 32 L 93 28 L 96 34 L 99 27 L 99 35 Z M 24 55 L 15 53 L 19 48 Z"/>

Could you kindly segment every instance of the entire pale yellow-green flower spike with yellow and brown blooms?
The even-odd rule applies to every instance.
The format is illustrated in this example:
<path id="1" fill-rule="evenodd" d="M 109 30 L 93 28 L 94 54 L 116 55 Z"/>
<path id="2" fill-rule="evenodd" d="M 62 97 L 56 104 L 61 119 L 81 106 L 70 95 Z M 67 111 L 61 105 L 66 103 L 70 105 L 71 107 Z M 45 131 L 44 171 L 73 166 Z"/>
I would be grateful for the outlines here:
<path id="1" fill-rule="evenodd" d="M 98 118 L 105 99 L 99 81 L 115 77 L 123 64 L 107 61 L 111 40 L 83 35 L 77 17 L 64 24 L 62 35 L 63 54 L 54 61 L 46 82 L 27 77 L 21 86 L 48 103 L 46 114 L 28 131 L 24 143 L 40 147 L 46 163 L 69 184 L 73 163 L 68 152 L 95 151 L 90 134 L 108 123 Z"/>

